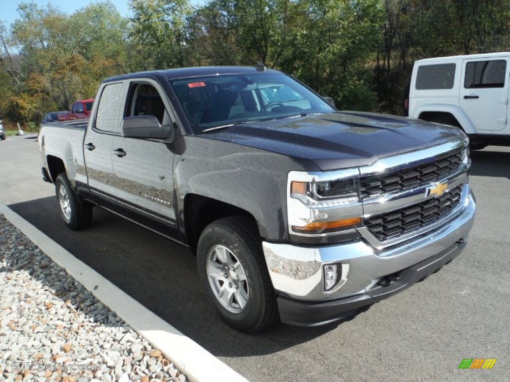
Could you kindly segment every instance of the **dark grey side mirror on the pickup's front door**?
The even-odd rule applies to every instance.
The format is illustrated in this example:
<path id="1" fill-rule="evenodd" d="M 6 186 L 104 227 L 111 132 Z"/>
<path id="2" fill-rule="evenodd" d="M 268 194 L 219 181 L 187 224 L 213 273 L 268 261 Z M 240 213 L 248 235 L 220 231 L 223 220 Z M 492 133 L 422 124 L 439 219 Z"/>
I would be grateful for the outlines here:
<path id="1" fill-rule="evenodd" d="M 155 116 L 126 117 L 120 123 L 122 137 L 126 138 L 175 138 L 172 125 L 161 125 Z"/>

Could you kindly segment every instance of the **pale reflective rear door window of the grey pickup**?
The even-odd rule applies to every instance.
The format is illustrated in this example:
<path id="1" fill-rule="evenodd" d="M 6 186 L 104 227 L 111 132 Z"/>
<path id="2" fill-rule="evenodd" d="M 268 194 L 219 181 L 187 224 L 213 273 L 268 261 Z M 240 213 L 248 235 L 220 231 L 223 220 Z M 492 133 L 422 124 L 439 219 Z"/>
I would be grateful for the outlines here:
<path id="1" fill-rule="evenodd" d="M 109 84 L 104 87 L 99 104 L 95 128 L 108 132 L 119 132 L 119 111 L 121 107 L 122 83 Z"/>

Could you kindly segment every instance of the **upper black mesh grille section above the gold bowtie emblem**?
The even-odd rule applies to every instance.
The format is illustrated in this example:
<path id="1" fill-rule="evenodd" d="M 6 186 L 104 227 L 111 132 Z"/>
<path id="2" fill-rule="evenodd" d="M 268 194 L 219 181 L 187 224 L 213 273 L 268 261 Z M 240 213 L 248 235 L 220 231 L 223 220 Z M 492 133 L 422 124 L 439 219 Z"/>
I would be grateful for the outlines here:
<path id="1" fill-rule="evenodd" d="M 462 166 L 462 151 L 437 157 L 404 170 L 362 176 L 361 197 L 372 198 L 384 194 L 400 193 L 421 185 L 447 178 Z"/>

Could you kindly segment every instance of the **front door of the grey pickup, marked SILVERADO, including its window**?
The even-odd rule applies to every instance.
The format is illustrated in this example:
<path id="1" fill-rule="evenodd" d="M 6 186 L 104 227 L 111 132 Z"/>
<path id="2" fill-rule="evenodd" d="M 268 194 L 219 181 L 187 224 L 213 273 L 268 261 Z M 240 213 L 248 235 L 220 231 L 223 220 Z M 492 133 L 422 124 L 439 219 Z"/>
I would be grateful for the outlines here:
<path id="1" fill-rule="evenodd" d="M 170 125 L 169 111 L 169 102 L 157 81 L 131 80 L 123 118 L 154 115 L 160 124 Z M 121 136 L 114 139 L 113 170 L 122 213 L 147 228 L 178 238 L 173 159 L 168 140 Z"/>

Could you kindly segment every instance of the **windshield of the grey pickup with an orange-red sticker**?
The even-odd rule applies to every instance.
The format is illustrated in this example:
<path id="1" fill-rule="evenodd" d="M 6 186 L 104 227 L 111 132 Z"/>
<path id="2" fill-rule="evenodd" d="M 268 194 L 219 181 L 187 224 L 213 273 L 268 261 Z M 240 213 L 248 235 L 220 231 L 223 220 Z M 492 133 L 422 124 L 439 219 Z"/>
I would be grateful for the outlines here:
<path id="1" fill-rule="evenodd" d="M 170 80 L 195 133 L 335 109 L 295 79 L 278 72 L 223 74 Z"/>

